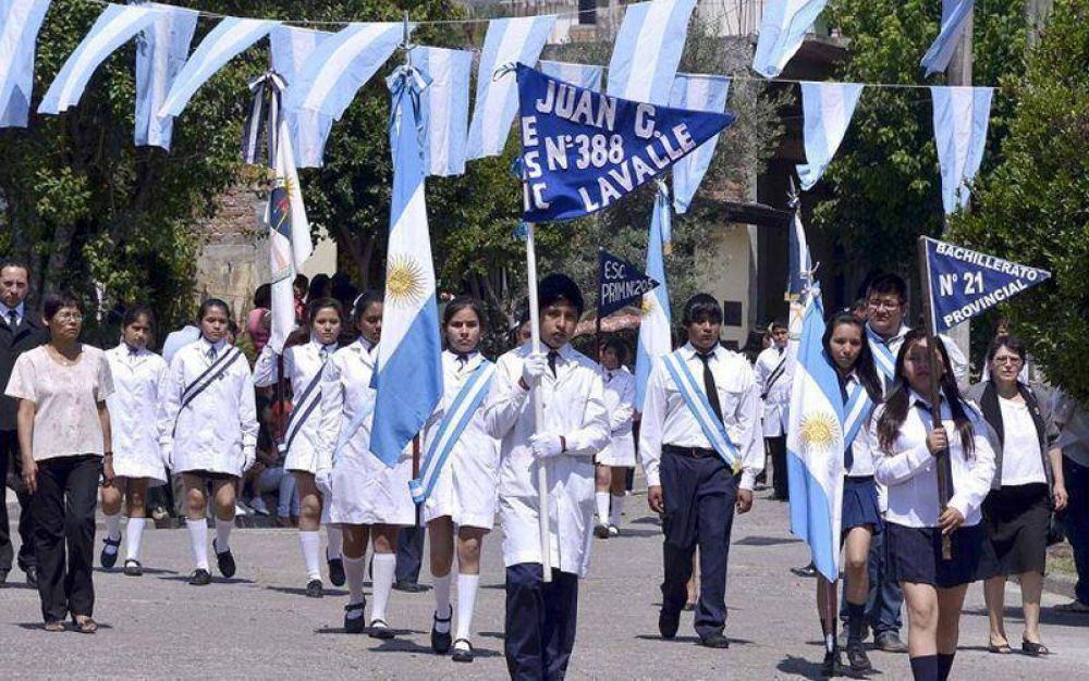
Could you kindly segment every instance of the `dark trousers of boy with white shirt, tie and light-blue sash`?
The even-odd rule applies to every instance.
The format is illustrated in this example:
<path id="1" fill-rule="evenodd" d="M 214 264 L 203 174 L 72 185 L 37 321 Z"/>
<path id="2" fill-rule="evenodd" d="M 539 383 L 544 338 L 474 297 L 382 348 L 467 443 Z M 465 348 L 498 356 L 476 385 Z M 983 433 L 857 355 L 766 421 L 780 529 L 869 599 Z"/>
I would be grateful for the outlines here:
<path id="1" fill-rule="evenodd" d="M 693 553 L 699 546 L 696 633 L 721 633 L 726 624 L 726 562 L 737 480 L 717 456 L 693 458 L 665 451 L 660 472 L 665 497 L 662 611 L 677 614 L 684 607 Z"/>

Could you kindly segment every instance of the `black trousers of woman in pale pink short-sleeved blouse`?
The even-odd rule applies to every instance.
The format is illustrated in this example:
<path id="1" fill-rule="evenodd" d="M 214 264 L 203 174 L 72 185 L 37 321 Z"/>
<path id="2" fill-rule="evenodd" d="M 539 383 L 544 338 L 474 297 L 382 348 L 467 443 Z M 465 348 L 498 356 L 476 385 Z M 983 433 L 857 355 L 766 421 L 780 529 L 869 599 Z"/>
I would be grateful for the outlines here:
<path id="1" fill-rule="evenodd" d="M 47 622 L 93 615 L 95 505 L 102 459 L 61 457 L 38 463 L 38 491 L 30 496 L 38 596 Z"/>

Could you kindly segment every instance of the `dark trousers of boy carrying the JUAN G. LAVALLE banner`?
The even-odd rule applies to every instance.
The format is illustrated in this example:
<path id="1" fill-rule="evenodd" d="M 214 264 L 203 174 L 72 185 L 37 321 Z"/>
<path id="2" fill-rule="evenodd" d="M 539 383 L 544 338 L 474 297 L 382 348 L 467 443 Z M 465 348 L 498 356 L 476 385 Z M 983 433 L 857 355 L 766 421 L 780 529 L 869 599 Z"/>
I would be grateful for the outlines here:
<path id="1" fill-rule="evenodd" d="M 578 577 L 552 569 L 544 583 L 539 562 L 506 568 L 506 670 L 513 681 L 556 681 L 575 647 Z"/>

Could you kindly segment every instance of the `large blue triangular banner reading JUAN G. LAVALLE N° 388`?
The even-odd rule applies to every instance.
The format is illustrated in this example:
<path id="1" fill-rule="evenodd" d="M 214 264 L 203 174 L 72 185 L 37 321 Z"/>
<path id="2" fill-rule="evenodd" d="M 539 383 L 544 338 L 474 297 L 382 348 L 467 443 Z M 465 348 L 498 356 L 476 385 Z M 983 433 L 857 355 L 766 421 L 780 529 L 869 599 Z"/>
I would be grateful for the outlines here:
<path id="1" fill-rule="evenodd" d="M 600 95 L 522 63 L 517 76 L 527 222 L 607 208 L 735 120 Z"/>

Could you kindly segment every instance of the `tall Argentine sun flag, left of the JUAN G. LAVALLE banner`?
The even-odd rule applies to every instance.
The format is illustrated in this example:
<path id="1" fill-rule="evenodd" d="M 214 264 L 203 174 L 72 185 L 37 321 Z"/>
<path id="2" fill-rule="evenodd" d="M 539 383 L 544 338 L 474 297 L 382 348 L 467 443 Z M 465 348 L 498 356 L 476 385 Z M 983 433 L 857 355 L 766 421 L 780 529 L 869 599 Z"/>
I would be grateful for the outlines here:
<path id="1" fill-rule="evenodd" d="M 419 94 L 427 86 L 411 66 L 397 69 L 389 86 L 393 202 L 370 450 L 392 467 L 442 397 L 442 346 L 418 127 Z"/>

